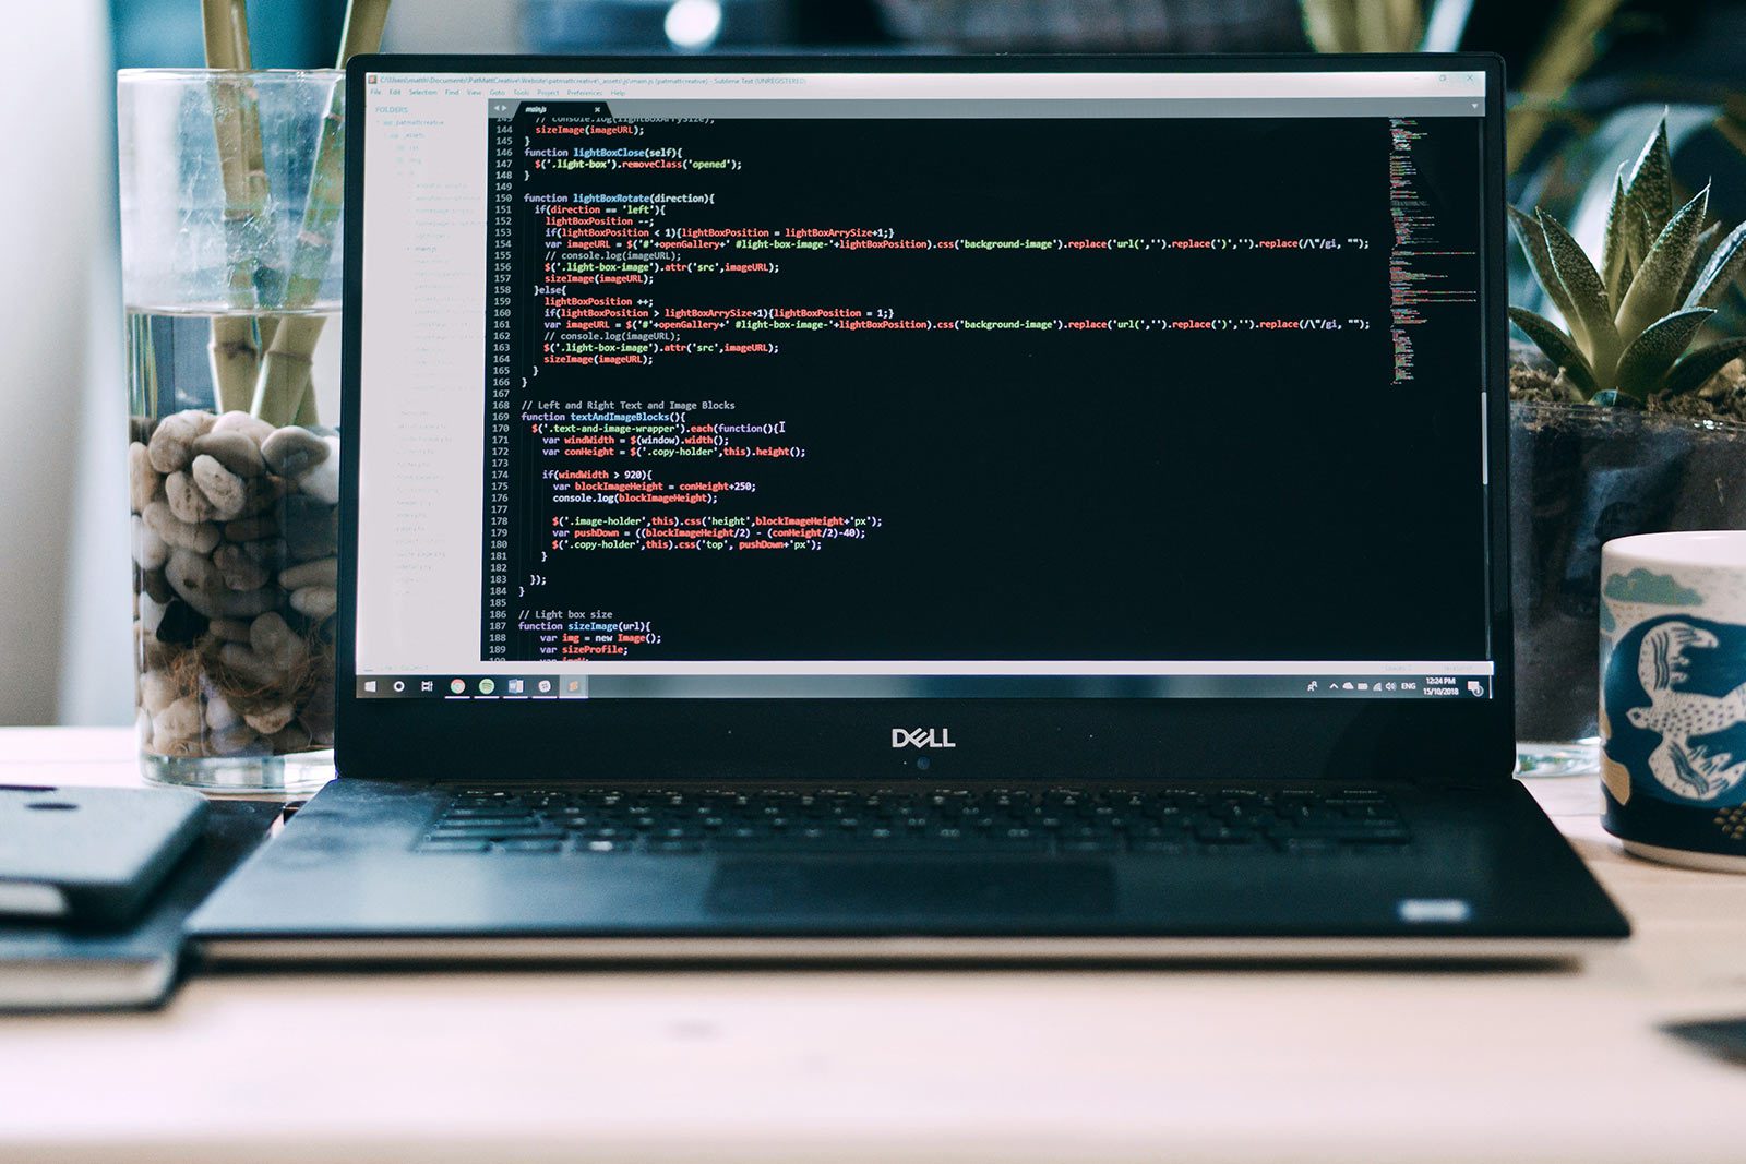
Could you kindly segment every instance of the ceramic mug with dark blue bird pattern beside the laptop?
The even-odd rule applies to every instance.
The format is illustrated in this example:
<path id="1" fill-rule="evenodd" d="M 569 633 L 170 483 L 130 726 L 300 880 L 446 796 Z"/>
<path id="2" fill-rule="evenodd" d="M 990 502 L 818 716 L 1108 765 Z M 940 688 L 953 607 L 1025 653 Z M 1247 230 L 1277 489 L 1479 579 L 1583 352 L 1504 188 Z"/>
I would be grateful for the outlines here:
<path id="1" fill-rule="evenodd" d="M 1599 613 L 1606 831 L 1746 873 L 1746 531 L 1608 541 Z"/>

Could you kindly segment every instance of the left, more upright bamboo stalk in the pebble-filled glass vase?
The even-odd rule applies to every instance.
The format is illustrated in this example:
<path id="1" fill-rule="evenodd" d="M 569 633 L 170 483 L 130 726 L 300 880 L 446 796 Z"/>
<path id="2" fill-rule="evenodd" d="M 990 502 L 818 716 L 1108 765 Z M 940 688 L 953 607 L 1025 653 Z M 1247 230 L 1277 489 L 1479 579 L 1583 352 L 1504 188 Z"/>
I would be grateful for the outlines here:
<path id="1" fill-rule="evenodd" d="M 243 0 L 203 0 L 201 24 L 206 37 L 206 65 L 244 70 L 248 56 L 248 12 Z M 258 161 L 260 113 L 253 94 L 244 94 L 227 79 L 213 84 L 213 134 L 218 141 L 218 175 L 223 185 L 225 260 L 230 269 L 229 298 L 232 311 L 253 311 L 258 300 L 251 244 L 255 202 L 264 199 L 265 166 Z M 253 143 L 250 143 L 253 136 Z M 258 175 L 258 181 L 253 175 Z M 260 366 L 260 340 L 248 314 L 213 319 L 210 344 L 213 394 L 220 412 L 246 408 Z"/>

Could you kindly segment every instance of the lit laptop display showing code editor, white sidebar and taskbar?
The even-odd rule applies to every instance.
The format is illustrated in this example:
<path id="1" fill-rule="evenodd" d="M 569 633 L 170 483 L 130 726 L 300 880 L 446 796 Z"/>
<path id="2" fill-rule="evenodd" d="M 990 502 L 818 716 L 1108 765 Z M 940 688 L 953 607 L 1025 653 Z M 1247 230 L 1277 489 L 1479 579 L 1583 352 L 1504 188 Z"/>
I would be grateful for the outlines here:
<path id="1" fill-rule="evenodd" d="M 356 695 L 1489 698 L 1484 86 L 367 75 Z"/>

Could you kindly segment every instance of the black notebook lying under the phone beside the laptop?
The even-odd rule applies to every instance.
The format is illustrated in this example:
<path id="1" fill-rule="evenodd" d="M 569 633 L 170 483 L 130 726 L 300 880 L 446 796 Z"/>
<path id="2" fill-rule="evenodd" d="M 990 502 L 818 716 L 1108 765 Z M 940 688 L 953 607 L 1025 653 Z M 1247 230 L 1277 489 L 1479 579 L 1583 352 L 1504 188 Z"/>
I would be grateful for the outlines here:
<path id="1" fill-rule="evenodd" d="M 0 925 L 0 1010 L 155 1007 L 182 962 L 182 921 L 267 836 L 281 808 L 217 801 L 206 829 L 140 920 L 119 930 Z"/>

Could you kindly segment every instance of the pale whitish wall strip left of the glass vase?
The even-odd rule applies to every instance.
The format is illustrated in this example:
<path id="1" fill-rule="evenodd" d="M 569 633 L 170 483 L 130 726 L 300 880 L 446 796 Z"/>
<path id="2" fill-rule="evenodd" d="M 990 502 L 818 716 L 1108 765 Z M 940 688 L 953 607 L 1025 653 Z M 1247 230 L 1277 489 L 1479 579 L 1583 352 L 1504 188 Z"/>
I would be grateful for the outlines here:
<path id="1" fill-rule="evenodd" d="M 0 38 L 0 722 L 52 722 L 59 705 L 75 506 L 105 492 L 119 529 L 82 555 L 108 604 L 89 630 L 119 625 L 101 651 L 112 686 L 100 717 L 127 714 L 126 393 L 119 302 L 96 272 L 113 262 L 108 5 L 9 5 Z M 94 347 L 96 346 L 96 347 Z M 93 359 L 93 351 L 103 358 Z M 94 379 L 101 375 L 103 379 Z M 84 478 L 110 433 L 108 471 Z M 93 510 L 96 513 L 96 510 Z M 100 560 L 107 565 L 100 567 Z M 96 597 L 96 595 L 93 595 Z M 94 609 L 94 607 L 91 607 Z M 117 707 L 115 693 L 120 695 Z"/>

